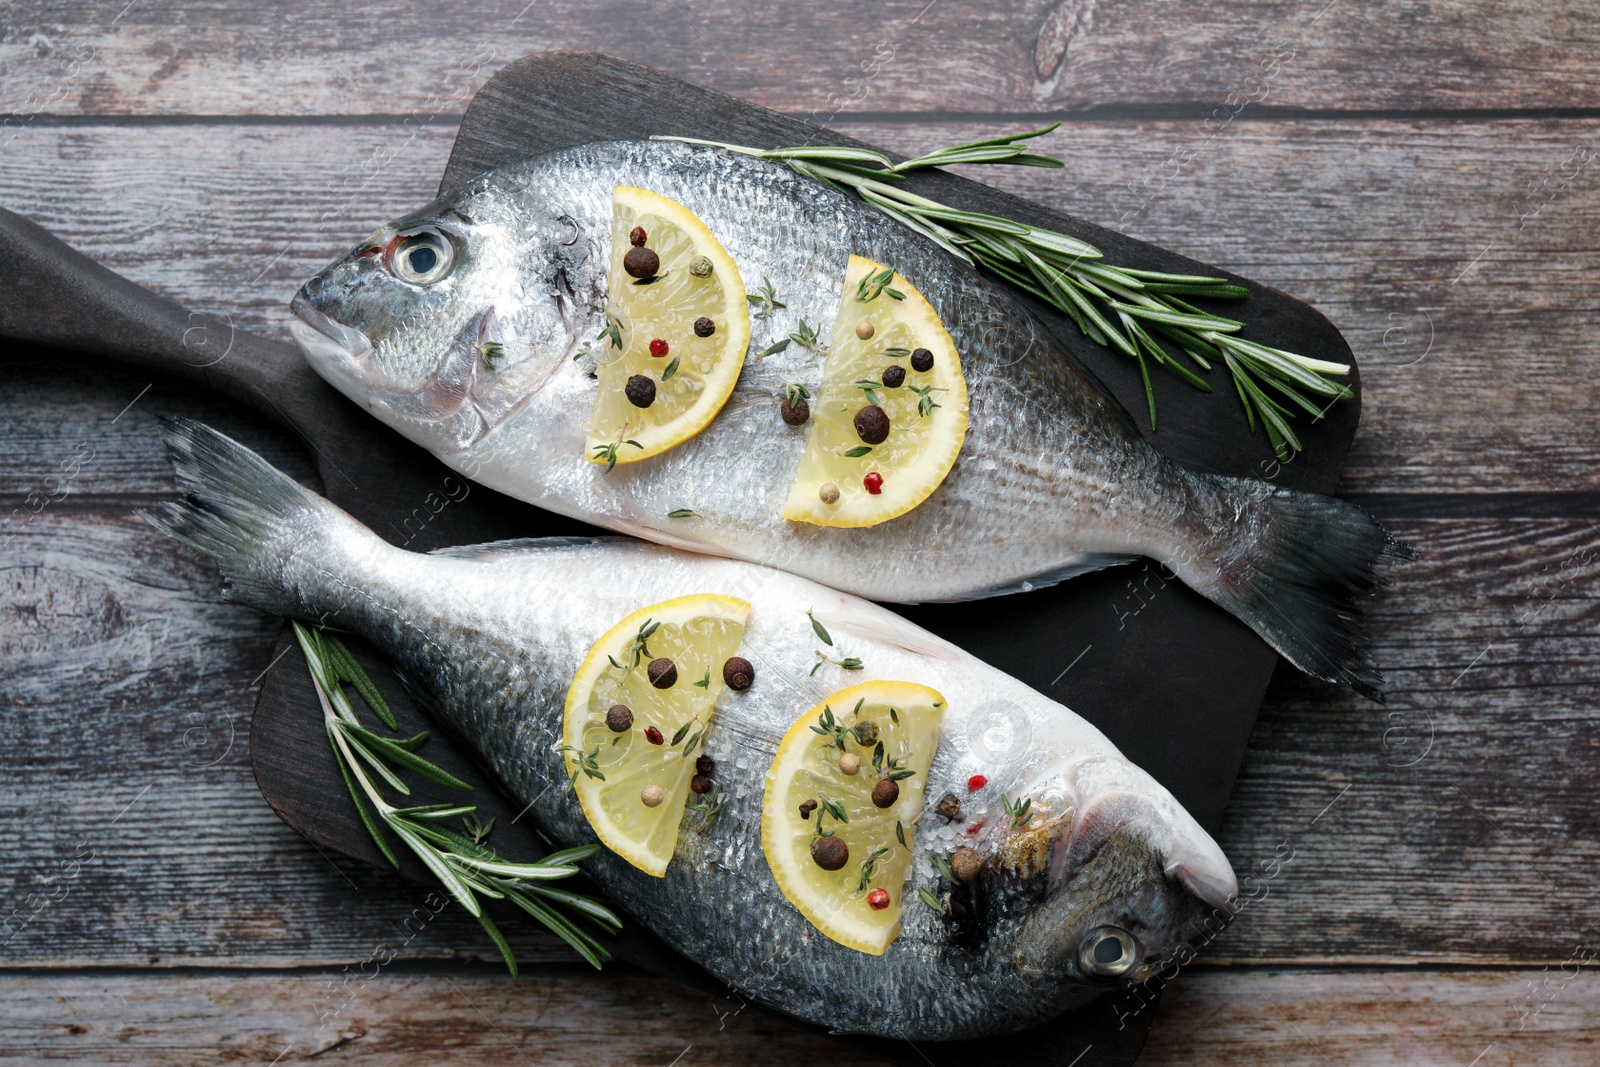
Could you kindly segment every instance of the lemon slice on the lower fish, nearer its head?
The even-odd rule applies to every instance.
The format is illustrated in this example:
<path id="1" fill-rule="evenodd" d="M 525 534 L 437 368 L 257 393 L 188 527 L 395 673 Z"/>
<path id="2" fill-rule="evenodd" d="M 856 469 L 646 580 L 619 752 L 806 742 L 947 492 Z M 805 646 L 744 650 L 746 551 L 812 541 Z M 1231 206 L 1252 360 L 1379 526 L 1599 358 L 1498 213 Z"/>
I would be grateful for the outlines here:
<path id="1" fill-rule="evenodd" d="M 762 798 L 762 849 L 789 902 L 842 945 L 883 955 L 899 936 L 915 819 L 942 721 L 944 697 L 934 689 L 867 681 L 813 707 L 778 744 Z M 859 761 L 854 774 L 840 766 L 846 757 Z M 891 776 L 899 797 L 880 808 L 872 792 Z M 802 816 L 802 805 L 814 809 Z M 848 849 L 837 870 L 813 856 L 819 830 Z"/>

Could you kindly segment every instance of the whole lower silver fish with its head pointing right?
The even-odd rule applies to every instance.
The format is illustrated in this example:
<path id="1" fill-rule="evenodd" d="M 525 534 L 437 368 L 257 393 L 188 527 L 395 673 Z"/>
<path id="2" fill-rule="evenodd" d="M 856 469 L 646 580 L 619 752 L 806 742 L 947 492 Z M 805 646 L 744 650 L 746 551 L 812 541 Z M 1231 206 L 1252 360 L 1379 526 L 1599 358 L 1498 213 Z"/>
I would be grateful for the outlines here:
<path id="1" fill-rule="evenodd" d="M 173 421 L 168 443 L 186 498 L 146 518 L 214 558 L 224 597 L 378 645 L 560 846 L 597 841 L 562 752 L 563 702 L 595 641 L 656 601 L 746 603 L 742 673 L 723 686 L 707 672 L 707 688 L 694 689 L 699 672 L 683 664 L 678 683 L 715 701 L 702 742 L 685 749 L 717 766 L 715 821 L 685 819 L 661 877 L 611 849 L 589 872 L 632 921 L 776 1009 L 837 1032 L 914 1040 L 1016 1030 L 1187 961 L 1232 913 L 1227 859 L 1158 782 L 1066 707 L 877 605 L 629 539 L 413 553 L 214 430 Z M 787 806 L 774 814 L 763 800 L 781 742 L 813 736 L 803 717 L 845 681 L 834 664 L 813 669 L 818 625 L 859 657 L 850 683 L 920 686 L 946 704 L 936 755 L 899 773 L 898 782 L 918 787 L 898 825 L 912 856 L 906 885 L 882 889 L 910 904 L 880 953 L 822 936 L 763 853 L 763 817 L 808 817 Z M 640 633 L 659 640 L 650 627 Z M 651 664 L 650 685 L 659 683 Z M 986 741 L 997 715 L 1008 745 Z M 630 744 L 638 729 L 627 726 Z M 872 741 L 853 729 L 850 745 Z M 650 744 L 669 747 L 659 734 Z M 648 787 L 642 797 L 648 805 Z M 846 841 L 853 827 L 834 824 Z M 962 849 L 968 862 L 954 885 L 942 857 Z M 853 905 L 870 915 L 880 904 Z"/>

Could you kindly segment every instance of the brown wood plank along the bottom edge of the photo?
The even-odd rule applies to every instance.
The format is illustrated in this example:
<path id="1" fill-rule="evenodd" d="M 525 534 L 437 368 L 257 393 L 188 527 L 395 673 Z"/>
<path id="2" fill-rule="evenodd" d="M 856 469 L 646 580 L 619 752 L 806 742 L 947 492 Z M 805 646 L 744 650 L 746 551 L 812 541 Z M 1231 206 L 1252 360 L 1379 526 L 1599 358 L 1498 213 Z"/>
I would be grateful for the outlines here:
<path id="1" fill-rule="evenodd" d="M 1170 985 L 1139 1064 L 1592 1064 L 1595 952 L 1581 942 L 1565 968 L 1523 971 L 1194 968 Z M 632 974 L 371 973 L 0 974 L 0 1064 L 269 1064 L 338 1051 L 384 1067 L 421 1049 L 450 1049 L 451 1064 L 552 1067 L 878 1062 Z M 944 1067 L 938 1045 L 922 1051 Z"/>

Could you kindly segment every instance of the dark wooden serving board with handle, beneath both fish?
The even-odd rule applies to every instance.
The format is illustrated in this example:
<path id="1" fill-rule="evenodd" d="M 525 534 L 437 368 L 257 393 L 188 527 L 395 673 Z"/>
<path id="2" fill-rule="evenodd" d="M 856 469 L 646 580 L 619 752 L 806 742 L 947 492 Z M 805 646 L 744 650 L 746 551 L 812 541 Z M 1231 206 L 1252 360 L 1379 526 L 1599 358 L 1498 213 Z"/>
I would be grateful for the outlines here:
<path id="1" fill-rule="evenodd" d="M 608 56 L 546 53 L 507 66 L 478 91 L 462 120 L 443 187 L 547 149 L 653 133 L 763 147 L 851 144 L 646 67 Z M 1070 157 L 1070 144 L 1056 150 Z M 1078 235 L 1102 248 L 1110 262 L 1227 274 L 952 174 L 918 173 L 910 187 L 957 206 Z M 424 198 L 424 190 L 418 190 L 418 202 Z M 357 237 L 350 235 L 352 243 Z M 0 350 L 6 355 L 37 360 L 59 358 L 64 350 L 90 352 L 243 402 L 296 432 L 317 461 L 326 496 L 395 544 L 426 550 L 584 530 L 482 486 L 472 486 L 466 499 L 454 499 L 461 496 L 458 475 L 360 413 L 290 346 L 189 314 L 10 213 L 0 213 L 0 248 L 11 266 L 11 285 L 0 293 L 5 339 Z M 1349 346 L 1326 318 L 1277 290 L 1251 288 L 1246 301 L 1229 304 L 1250 323 L 1245 336 L 1354 365 Z M 1026 298 L 1024 302 L 1142 424 L 1142 387 L 1133 365 L 1085 341 L 1048 307 Z M 1211 397 L 1158 379 L 1162 427 L 1152 437 L 1158 448 L 1208 470 L 1270 474 L 1280 485 L 1333 491 L 1355 435 L 1358 400 L 1299 427 L 1307 453 L 1280 466 L 1272 462 L 1266 440 L 1248 432 L 1226 378 L 1221 373 L 1213 378 L 1218 394 Z M 1358 382 L 1352 384 L 1358 392 Z M 427 501 L 442 498 L 451 502 L 435 514 Z M 1070 705 L 1166 784 L 1206 829 L 1218 829 L 1277 662 L 1243 624 L 1176 582 L 1162 582 L 1154 565 L 1115 568 L 1002 600 L 902 613 Z M 283 656 L 288 648 L 285 632 L 251 726 L 261 792 L 318 846 L 382 865 L 344 797 L 304 665 L 298 654 Z M 357 651 L 402 721 L 426 725 L 405 693 L 390 683 L 382 661 L 365 646 Z M 475 800 L 485 816 L 499 816 L 494 841 L 502 853 L 531 857 L 542 851 L 534 833 L 515 825 L 520 805 L 496 792 L 493 777 L 474 765 L 464 745 L 435 737 L 429 750 L 437 761 L 483 785 Z M 414 862 L 405 864 L 403 873 L 429 878 Z M 632 923 L 618 937 L 616 953 L 715 997 L 731 995 L 726 985 Z M 974 1056 L 998 1056 L 1011 1064 L 1128 1064 L 1154 1013 L 1139 1011 L 1126 1025 L 1120 1016 L 1110 998 L 1104 998 L 1046 1027 L 981 1046 L 914 1049 L 902 1041 L 856 1043 L 917 1064 L 958 1064 Z"/>

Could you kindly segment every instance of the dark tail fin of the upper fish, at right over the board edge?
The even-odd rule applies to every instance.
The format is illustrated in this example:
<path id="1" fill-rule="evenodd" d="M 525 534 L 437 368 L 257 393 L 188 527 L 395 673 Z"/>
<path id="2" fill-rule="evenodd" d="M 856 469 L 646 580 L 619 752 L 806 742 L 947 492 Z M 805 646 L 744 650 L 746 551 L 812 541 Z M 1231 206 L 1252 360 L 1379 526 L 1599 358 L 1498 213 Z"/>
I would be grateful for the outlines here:
<path id="1" fill-rule="evenodd" d="M 1382 702 L 1382 675 L 1358 597 L 1387 585 L 1386 568 L 1414 557 L 1363 509 L 1333 496 L 1222 478 L 1240 501 L 1237 536 L 1184 581 L 1238 616 L 1309 675 Z M 1229 504 L 1230 509 L 1235 504 Z"/>

